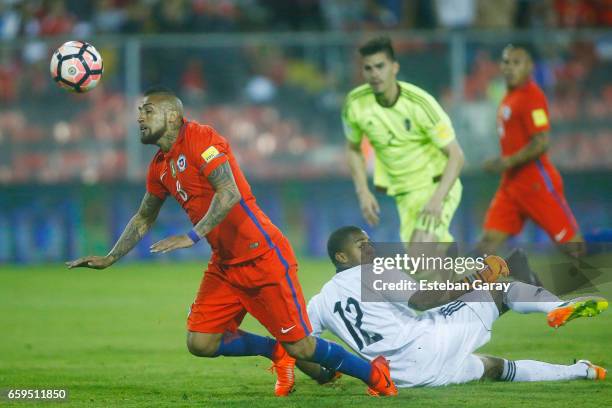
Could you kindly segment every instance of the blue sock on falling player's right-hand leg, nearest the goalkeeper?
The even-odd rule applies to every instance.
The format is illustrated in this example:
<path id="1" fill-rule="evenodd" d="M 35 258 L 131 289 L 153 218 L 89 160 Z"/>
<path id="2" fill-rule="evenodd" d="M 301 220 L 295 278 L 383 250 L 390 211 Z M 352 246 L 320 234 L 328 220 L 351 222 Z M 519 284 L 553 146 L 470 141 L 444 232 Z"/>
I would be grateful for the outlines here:
<path id="1" fill-rule="evenodd" d="M 318 337 L 316 340 L 317 345 L 310 361 L 319 363 L 325 368 L 359 378 L 369 384 L 372 366 L 368 361 L 349 353 L 336 343 Z"/>

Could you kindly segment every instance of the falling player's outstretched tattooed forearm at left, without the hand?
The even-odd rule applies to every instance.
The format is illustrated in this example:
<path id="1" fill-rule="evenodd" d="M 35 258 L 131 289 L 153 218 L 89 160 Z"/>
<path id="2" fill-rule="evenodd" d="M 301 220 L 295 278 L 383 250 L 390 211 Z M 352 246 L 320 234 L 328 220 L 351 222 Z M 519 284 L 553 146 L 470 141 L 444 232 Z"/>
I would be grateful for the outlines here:
<path id="1" fill-rule="evenodd" d="M 113 246 L 113 249 L 111 249 L 108 255 L 106 255 L 112 259 L 113 263 L 130 252 L 132 248 L 134 248 L 136 244 L 140 242 L 142 237 L 149 231 L 149 229 L 151 229 L 151 226 L 153 223 L 155 223 L 163 203 L 163 200 L 154 196 L 153 194 L 145 194 L 142 202 L 140 203 L 138 212 L 125 226 L 125 229 L 115 243 L 115 246 Z"/>

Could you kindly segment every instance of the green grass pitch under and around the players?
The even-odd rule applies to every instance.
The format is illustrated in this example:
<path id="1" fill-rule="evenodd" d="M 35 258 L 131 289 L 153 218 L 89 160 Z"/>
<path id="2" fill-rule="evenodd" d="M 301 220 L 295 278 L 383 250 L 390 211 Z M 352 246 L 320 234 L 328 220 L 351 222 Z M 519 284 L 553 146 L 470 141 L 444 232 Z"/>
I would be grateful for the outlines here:
<path id="1" fill-rule="evenodd" d="M 296 392 L 277 399 L 263 358 L 202 359 L 185 347 L 185 319 L 202 265 L 119 263 L 110 269 L 62 265 L 0 268 L 0 390 L 67 389 L 60 406 L 486 406 L 604 407 L 610 380 L 473 383 L 401 389 L 373 399 L 358 380 L 333 387 L 297 374 Z M 331 276 L 325 261 L 302 261 L 309 298 Z M 608 286 L 609 289 L 609 286 Z M 264 334 L 253 319 L 243 328 Z M 508 313 L 481 352 L 511 359 L 570 363 L 588 358 L 609 367 L 612 311 L 558 330 L 543 315 Z M 0 405 L 9 406 L 6 399 Z M 28 406 L 24 402 L 14 406 Z M 46 403 L 44 406 L 55 405 Z"/>

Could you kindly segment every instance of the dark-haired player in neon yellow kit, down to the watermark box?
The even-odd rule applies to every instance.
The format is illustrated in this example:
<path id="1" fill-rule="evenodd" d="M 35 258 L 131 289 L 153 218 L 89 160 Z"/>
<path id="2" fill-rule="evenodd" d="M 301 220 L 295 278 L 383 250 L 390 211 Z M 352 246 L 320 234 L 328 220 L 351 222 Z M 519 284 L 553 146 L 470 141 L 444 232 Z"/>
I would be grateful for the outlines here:
<path id="1" fill-rule="evenodd" d="M 368 187 L 361 141 L 376 155 L 374 184 L 394 197 L 404 242 L 452 242 L 449 226 L 461 200 L 463 151 L 448 115 L 424 90 L 397 80 L 399 63 L 389 38 L 359 48 L 366 84 L 353 89 L 342 110 L 348 162 L 364 218 L 379 221 Z"/>

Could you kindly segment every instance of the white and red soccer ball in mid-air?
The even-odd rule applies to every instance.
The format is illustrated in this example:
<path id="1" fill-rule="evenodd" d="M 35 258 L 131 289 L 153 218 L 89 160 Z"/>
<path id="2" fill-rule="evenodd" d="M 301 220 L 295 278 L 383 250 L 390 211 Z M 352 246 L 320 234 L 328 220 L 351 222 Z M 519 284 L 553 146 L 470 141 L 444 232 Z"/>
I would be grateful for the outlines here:
<path id="1" fill-rule="evenodd" d="M 68 41 L 51 57 L 51 77 L 71 92 L 88 92 L 102 79 L 104 64 L 100 53 L 84 41 Z"/>

